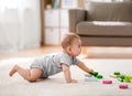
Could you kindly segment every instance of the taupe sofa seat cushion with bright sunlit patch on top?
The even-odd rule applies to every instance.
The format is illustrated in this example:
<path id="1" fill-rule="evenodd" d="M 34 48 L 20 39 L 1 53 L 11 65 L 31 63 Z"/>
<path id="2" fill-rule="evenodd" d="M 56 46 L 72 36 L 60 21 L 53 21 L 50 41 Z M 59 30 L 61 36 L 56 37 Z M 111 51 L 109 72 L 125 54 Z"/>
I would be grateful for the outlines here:
<path id="1" fill-rule="evenodd" d="M 132 36 L 130 22 L 80 22 L 76 29 L 79 35 Z"/>

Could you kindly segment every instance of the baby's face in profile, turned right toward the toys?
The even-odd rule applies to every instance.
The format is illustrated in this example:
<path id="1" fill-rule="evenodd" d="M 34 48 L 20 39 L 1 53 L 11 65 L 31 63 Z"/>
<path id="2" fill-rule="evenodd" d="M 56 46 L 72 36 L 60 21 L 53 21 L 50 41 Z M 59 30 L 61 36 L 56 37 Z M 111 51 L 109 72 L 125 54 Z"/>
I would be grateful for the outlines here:
<path id="1" fill-rule="evenodd" d="M 81 41 L 75 40 L 72 45 L 72 54 L 73 56 L 78 56 L 81 52 Z"/>

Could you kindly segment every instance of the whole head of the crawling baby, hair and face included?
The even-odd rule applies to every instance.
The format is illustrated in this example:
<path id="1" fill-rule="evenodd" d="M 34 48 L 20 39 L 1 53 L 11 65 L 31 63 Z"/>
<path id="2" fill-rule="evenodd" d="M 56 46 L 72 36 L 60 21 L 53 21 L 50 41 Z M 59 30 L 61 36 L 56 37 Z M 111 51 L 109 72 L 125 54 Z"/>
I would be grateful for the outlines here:
<path id="1" fill-rule="evenodd" d="M 62 47 L 70 55 L 77 56 L 81 52 L 81 41 L 80 38 L 75 33 L 67 33 L 63 41 Z"/>

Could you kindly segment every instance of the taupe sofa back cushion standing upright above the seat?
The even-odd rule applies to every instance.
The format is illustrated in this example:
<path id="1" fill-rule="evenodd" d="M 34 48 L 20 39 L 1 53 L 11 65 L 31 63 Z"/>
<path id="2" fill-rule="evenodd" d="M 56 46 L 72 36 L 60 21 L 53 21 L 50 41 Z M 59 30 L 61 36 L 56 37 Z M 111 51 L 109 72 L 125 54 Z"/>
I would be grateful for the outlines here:
<path id="1" fill-rule="evenodd" d="M 88 20 L 132 21 L 132 2 L 88 2 Z"/>

